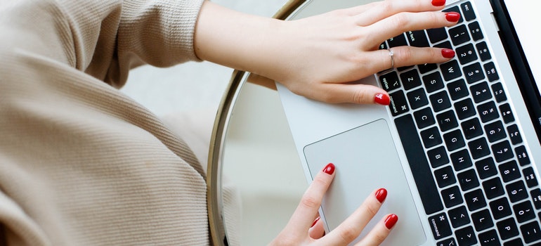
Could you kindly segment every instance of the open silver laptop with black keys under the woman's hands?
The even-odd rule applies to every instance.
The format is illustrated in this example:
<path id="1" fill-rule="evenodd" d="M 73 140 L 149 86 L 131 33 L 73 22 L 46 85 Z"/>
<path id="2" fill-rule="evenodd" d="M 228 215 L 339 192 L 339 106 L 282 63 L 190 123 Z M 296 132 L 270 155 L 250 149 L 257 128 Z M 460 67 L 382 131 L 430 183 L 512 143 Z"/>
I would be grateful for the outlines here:
<path id="1" fill-rule="evenodd" d="M 289 19 L 367 2 L 306 1 Z M 457 52 L 356 82 L 389 91 L 389 107 L 320 103 L 278 84 L 306 179 L 337 166 L 320 208 L 325 230 L 386 188 L 360 238 L 395 213 L 383 245 L 541 245 L 540 36 L 524 25 L 530 4 L 448 0 L 457 25 L 385 41 Z"/>

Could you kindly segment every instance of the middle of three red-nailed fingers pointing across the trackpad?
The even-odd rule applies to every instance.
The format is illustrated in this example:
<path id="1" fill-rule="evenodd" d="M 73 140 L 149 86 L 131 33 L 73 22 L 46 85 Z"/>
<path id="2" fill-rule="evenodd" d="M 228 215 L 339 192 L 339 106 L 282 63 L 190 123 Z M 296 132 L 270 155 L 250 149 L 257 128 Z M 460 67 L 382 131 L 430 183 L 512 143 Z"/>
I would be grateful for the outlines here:
<path id="1" fill-rule="evenodd" d="M 382 202 L 387 196 L 387 190 L 379 188 L 375 190 L 351 216 L 344 220 L 337 228 L 334 228 L 322 240 L 328 245 L 346 245 L 355 240 L 363 231 L 368 222 L 377 214 Z"/>

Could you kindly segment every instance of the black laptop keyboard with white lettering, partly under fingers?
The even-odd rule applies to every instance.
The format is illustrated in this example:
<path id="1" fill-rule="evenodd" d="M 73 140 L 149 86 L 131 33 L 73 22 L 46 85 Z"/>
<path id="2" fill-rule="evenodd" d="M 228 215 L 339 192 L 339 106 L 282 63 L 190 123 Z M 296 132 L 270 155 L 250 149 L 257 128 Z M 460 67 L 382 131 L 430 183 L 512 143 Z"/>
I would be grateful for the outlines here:
<path id="1" fill-rule="evenodd" d="M 470 2 L 453 27 L 406 32 L 379 48 L 452 48 L 443 64 L 380 75 L 438 245 L 540 243 L 541 189 L 490 45 Z"/>

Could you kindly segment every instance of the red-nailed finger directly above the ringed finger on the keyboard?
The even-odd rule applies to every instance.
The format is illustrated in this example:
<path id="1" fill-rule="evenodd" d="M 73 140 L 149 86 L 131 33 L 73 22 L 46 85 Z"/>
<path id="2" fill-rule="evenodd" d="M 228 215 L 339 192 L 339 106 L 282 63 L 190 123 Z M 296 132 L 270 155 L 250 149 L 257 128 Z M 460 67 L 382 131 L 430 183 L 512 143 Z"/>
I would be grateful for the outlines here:
<path id="1" fill-rule="evenodd" d="M 459 17 L 459 13 L 455 12 L 397 13 L 364 27 L 363 32 L 370 34 L 366 35 L 365 44 L 371 45 L 365 48 L 372 48 L 372 44 L 381 44 L 386 39 L 408 31 L 450 27 L 458 22 Z"/>

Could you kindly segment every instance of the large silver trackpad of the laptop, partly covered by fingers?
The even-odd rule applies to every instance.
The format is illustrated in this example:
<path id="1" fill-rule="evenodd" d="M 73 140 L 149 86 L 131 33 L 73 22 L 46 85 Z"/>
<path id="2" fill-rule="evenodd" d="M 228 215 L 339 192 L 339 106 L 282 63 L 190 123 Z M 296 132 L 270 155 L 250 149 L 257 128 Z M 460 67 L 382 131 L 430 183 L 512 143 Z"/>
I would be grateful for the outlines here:
<path id="1" fill-rule="evenodd" d="M 365 124 L 306 145 L 306 162 L 312 177 L 327 163 L 334 163 L 337 175 L 322 203 L 327 227 L 341 224 L 377 188 L 386 188 L 386 202 L 363 231 L 386 214 L 398 215 L 398 224 L 382 245 L 422 245 L 426 236 L 396 148 L 384 119 Z"/>

